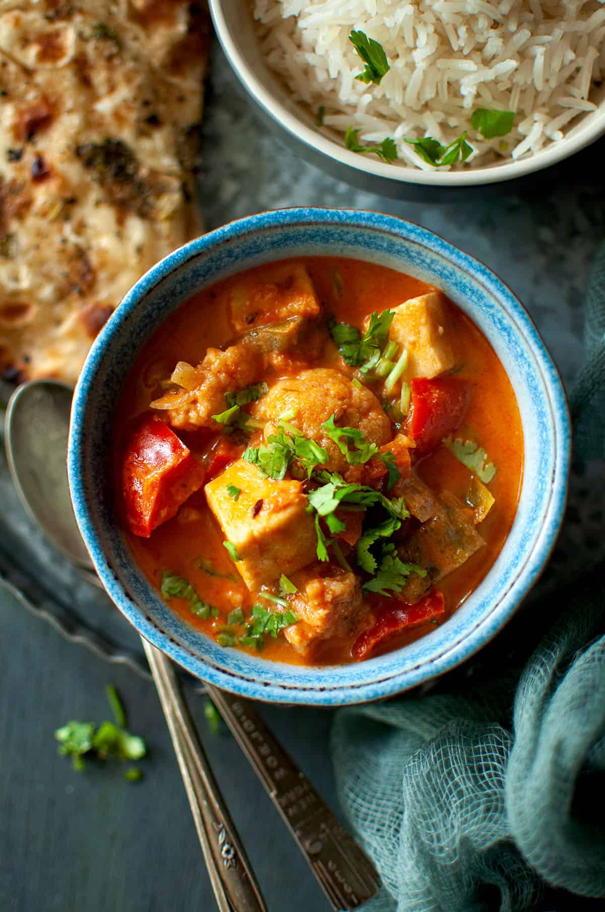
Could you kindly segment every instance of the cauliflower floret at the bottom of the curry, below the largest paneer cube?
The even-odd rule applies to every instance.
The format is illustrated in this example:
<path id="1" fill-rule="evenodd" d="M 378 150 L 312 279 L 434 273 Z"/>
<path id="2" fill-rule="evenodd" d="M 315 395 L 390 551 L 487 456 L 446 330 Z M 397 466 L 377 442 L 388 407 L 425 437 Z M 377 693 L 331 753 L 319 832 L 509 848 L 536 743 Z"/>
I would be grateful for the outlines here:
<path id="1" fill-rule="evenodd" d="M 299 591 L 289 601 L 299 620 L 283 633 L 297 652 L 305 655 L 320 640 L 354 633 L 364 614 L 357 576 L 337 566 L 315 564 L 294 574 L 292 583 Z"/>

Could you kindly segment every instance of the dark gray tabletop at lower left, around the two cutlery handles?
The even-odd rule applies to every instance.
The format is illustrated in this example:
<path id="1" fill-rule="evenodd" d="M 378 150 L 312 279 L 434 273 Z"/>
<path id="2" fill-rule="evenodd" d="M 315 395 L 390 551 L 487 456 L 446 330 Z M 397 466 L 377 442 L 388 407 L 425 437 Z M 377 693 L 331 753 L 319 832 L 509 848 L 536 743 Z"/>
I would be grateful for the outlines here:
<path id="1" fill-rule="evenodd" d="M 212 912 L 212 893 L 153 685 L 67 643 L 0 592 L 0 909 L 2 912 Z M 56 754 L 69 719 L 111 718 L 118 686 L 149 744 L 143 782 L 122 766 L 74 772 Z M 328 910 L 302 855 L 230 735 L 202 741 L 271 910 Z M 330 713 L 269 708 L 274 731 L 333 799 Z"/>

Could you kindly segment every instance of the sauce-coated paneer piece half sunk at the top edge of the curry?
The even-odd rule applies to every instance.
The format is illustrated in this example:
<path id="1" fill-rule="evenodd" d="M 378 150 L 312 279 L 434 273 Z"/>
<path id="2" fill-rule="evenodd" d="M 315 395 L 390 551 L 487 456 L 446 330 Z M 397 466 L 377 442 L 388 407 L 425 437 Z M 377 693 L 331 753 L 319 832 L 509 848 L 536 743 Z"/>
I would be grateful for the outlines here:
<path id="1" fill-rule="evenodd" d="M 313 282 L 300 264 L 272 264 L 270 281 L 248 275 L 231 287 L 229 314 L 236 333 L 282 323 L 292 316 L 317 316 L 319 311 Z"/>

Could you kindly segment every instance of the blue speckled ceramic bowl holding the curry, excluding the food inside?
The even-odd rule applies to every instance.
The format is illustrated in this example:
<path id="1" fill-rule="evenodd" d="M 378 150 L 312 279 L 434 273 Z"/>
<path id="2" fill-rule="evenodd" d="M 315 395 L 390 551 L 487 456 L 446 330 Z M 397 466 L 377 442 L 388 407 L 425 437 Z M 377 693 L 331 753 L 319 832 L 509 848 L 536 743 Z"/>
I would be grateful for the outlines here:
<path id="1" fill-rule="evenodd" d="M 128 368 L 190 295 L 289 256 L 333 254 L 415 275 L 444 290 L 479 326 L 508 371 L 525 435 L 518 513 L 496 564 L 454 617 L 385 656 L 300 668 L 221 648 L 172 613 L 149 585 L 116 522 L 109 489 L 112 422 Z M 379 304 L 377 302 L 377 304 Z M 74 395 L 68 472 L 77 523 L 109 596 L 138 631 L 200 679 L 258 700 L 339 706 L 389 697 L 454 668 L 507 622 L 549 557 L 565 506 L 569 415 L 536 327 L 484 265 L 418 225 L 374 212 L 264 212 L 206 234 L 144 275 L 103 328 Z"/>

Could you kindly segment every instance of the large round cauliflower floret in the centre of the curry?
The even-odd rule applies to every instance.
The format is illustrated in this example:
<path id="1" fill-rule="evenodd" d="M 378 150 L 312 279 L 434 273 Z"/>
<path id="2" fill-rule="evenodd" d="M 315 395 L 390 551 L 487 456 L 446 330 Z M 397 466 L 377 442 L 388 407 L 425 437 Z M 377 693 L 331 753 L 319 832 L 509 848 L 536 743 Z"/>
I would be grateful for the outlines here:
<path id="1" fill-rule="evenodd" d="M 315 440 L 328 452 L 327 468 L 340 472 L 348 481 L 358 481 L 363 466 L 350 465 L 336 443 L 322 428 L 324 421 L 334 415 L 340 427 L 357 428 L 365 440 L 381 447 L 392 437 L 391 422 L 380 402 L 370 389 L 359 389 L 339 370 L 313 368 L 298 376 L 284 378 L 255 402 L 252 415 L 268 422 L 265 438 L 277 431 L 277 421 L 283 414 L 293 414 L 294 424 L 305 437 Z"/>

